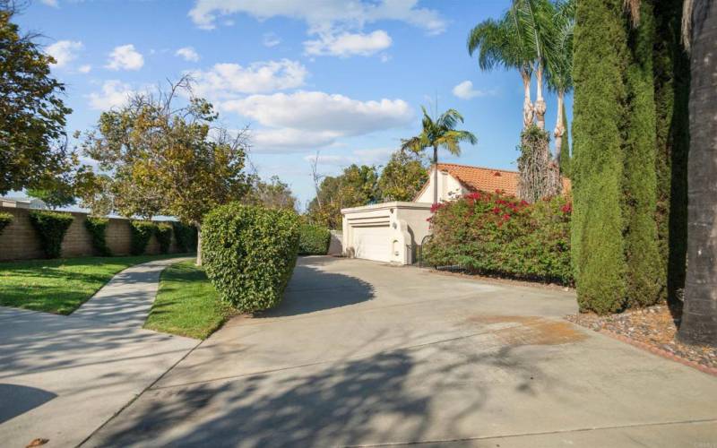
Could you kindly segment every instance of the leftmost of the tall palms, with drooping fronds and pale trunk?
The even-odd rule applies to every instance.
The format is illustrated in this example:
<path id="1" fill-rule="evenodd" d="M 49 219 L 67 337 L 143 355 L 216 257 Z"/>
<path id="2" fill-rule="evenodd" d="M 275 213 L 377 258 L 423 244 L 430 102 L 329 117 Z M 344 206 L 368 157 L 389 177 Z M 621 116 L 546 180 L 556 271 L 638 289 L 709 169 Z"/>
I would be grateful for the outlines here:
<path id="1" fill-rule="evenodd" d="M 523 129 L 532 125 L 534 111 L 531 101 L 533 55 L 528 40 L 523 36 L 517 15 L 505 13 L 495 21 L 480 22 L 468 35 L 468 53 L 478 51 L 480 70 L 493 70 L 496 66 L 517 69 L 523 80 Z"/>

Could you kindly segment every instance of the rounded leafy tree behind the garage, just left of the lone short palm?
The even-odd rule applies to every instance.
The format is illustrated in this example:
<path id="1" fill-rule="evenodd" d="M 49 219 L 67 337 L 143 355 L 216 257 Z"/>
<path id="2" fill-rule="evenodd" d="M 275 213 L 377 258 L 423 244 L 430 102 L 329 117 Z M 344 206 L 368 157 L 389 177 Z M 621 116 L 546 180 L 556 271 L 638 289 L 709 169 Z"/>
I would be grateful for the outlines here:
<path id="1" fill-rule="evenodd" d="M 384 201 L 413 201 L 428 179 L 428 170 L 418 154 L 395 151 L 391 154 L 378 187 Z"/>

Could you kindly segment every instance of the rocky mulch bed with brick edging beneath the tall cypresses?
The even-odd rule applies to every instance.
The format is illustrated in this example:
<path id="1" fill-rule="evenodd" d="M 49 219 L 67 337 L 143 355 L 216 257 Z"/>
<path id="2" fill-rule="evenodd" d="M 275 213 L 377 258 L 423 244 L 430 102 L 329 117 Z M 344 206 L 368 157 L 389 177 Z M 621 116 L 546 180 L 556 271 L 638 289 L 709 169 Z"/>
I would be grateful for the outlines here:
<path id="1" fill-rule="evenodd" d="M 606 333 L 656 355 L 717 375 L 717 348 L 686 345 L 675 340 L 679 306 L 656 305 L 622 314 L 569 314 L 566 319 L 595 332 Z"/>

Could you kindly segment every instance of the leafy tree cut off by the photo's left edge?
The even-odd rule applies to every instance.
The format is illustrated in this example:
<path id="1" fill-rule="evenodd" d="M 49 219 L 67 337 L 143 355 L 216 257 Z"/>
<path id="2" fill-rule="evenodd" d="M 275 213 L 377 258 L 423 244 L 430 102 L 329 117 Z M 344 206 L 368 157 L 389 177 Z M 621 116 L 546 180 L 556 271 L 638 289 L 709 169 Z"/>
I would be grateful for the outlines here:
<path id="1" fill-rule="evenodd" d="M 48 188 L 67 167 L 65 86 L 50 76 L 55 60 L 12 22 L 0 1 L 0 194 Z"/>

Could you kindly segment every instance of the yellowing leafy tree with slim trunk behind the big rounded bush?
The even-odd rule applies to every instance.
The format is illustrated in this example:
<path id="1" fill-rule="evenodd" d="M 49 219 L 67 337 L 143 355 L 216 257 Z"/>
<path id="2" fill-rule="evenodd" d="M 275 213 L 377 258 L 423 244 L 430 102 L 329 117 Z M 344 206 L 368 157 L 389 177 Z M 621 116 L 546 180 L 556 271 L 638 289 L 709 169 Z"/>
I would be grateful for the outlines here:
<path id="1" fill-rule="evenodd" d="M 186 103 L 177 104 L 180 92 L 189 97 Z M 183 78 L 156 97 L 138 94 L 124 108 L 102 113 L 83 142 L 85 154 L 112 173 L 100 186 L 120 214 L 161 213 L 200 229 L 197 264 L 204 214 L 241 200 L 250 186 L 243 172 L 247 134 L 215 127 L 217 118 L 212 104 L 195 98 Z"/>

